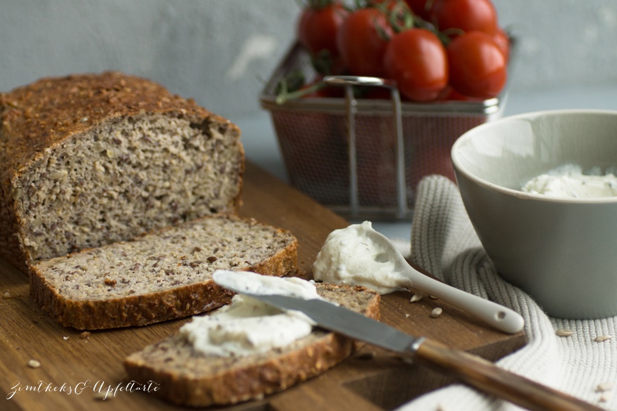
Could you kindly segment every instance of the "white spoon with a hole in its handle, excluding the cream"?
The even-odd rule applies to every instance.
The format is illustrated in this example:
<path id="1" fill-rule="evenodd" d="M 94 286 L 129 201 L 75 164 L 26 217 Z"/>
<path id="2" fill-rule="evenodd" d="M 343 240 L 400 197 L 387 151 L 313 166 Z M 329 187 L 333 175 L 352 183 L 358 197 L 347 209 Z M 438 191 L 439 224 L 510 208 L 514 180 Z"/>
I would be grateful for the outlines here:
<path id="1" fill-rule="evenodd" d="M 522 330 L 524 320 L 518 312 L 420 273 L 409 265 L 409 262 L 405 260 L 402 253 L 389 238 L 374 229 L 367 230 L 366 234 L 383 250 L 383 253 L 378 254 L 375 259 L 378 262 L 385 262 L 386 260 L 394 262 L 395 270 L 409 278 L 413 288 L 443 299 L 503 332 L 516 334 Z"/>

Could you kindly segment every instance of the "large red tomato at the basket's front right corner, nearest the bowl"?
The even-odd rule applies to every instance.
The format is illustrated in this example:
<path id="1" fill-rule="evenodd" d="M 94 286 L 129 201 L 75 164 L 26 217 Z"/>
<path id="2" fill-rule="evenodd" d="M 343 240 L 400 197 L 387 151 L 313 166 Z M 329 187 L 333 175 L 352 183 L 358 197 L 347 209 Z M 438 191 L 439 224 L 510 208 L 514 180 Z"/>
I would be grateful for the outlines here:
<path id="1" fill-rule="evenodd" d="M 489 99 L 505 86 L 507 62 L 491 36 L 467 32 L 448 44 L 450 85 L 463 95 Z"/>

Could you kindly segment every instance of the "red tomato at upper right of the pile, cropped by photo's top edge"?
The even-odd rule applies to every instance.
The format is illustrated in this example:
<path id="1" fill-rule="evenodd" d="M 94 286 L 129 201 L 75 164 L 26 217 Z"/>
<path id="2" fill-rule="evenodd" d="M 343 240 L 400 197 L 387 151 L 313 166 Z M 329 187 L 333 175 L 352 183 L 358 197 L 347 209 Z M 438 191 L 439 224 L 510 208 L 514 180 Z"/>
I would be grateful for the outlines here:
<path id="1" fill-rule="evenodd" d="M 493 35 L 497 30 L 497 12 L 491 0 L 437 0 L 431 10 L 431 22 L 439 31 L 477 30 Z"/>

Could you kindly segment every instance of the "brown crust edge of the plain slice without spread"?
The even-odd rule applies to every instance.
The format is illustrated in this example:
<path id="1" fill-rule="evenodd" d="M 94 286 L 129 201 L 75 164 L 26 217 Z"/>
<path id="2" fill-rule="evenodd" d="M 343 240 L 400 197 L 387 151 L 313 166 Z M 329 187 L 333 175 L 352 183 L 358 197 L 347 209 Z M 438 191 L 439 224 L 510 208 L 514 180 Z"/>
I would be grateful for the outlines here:
<path id="1" fill-rule="evenodd" d="M 205 219 L 217 217 L 204 217 Z M 241 221 L 237 216 L 225 219 Z M 256 223 L 252 219 L 245 219 Z M 292 241 L 270 258 L 243 268 L 264 275 L 283 277 L 296 273 L 298 264 L 298 240 L 290 232 L 275 229 L 277 233 L 289 234 Z M 162 230 L 165 232 L 165 229 Z M 232 292 L 218 286 L 212 279 L 204 282 L 180 285 L 160 292 L 131 295 L 115 299 L 74 300 L 60 294 L 45 279 L 38 266 L 31 267 L 30 294 L 34 301 L 52 319 L 65 327 L 76 329 L 108 329 L 147 325 L 213 310 L 229 303 Z"/>

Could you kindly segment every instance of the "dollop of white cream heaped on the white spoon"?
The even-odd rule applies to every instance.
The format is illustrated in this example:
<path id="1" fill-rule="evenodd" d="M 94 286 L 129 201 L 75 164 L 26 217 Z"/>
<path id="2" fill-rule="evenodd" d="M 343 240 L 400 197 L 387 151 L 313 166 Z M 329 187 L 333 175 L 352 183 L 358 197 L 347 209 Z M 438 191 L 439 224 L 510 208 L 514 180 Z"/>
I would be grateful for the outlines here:
<path id="1" fill-rule="evenodd" d="M 394 261 L 367 237 L 372 229 L 371 222 L 365 221 L 331 232 L 313 263 L 315 280 L 365 286 L 380 294 L 411 286 L 411 280 L 397 272 Z"/>

